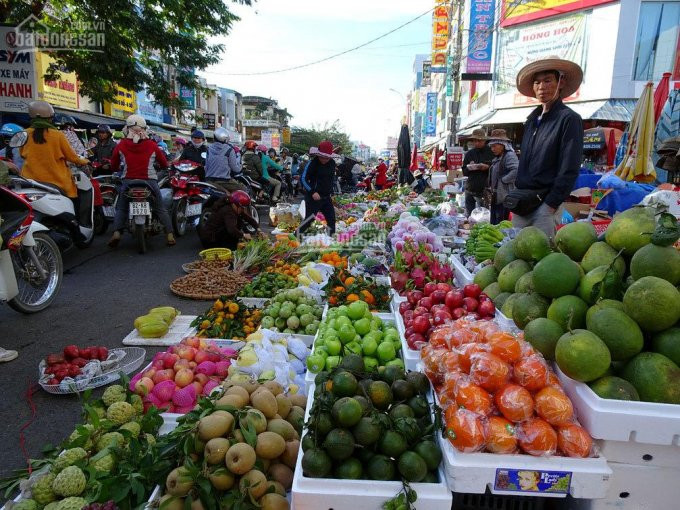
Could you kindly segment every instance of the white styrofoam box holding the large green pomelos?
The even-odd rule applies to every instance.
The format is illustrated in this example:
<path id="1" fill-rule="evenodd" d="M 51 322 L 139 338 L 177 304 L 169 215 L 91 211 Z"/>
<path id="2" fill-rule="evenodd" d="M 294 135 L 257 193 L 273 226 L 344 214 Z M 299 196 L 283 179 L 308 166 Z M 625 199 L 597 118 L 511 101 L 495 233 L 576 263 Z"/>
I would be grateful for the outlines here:
<path id="1" fill-rule="evenodd" d="M 595 439 L 680 445 L 680 405 L 600 398 L 559 367 L 555 372 L 578 411 L 579 421 Z"/>

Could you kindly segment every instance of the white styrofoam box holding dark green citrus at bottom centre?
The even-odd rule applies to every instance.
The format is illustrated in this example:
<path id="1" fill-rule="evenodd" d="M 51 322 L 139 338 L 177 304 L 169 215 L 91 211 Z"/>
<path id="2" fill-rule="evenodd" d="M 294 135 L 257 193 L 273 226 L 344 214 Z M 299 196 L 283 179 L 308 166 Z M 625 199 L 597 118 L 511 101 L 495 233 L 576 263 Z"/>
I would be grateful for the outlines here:
<path id="1" fill-rule="evenodd" d="M 307 397 L 305 422 L 314 402 L 314 388 Z M 439 469 L 438 483 L 412 483 L 418 494 L 413 507 L 416 510 L 450 510 L 452 495 L 446 486 L 443 470 Z M 297 510 L 380 510 L 385 501 L 402 490 L 401 482 L 377 480 L 339 480 L 308 478 L 302 474 L 302 449 L 298 454 L 293 477 L 293 506 Z"/>

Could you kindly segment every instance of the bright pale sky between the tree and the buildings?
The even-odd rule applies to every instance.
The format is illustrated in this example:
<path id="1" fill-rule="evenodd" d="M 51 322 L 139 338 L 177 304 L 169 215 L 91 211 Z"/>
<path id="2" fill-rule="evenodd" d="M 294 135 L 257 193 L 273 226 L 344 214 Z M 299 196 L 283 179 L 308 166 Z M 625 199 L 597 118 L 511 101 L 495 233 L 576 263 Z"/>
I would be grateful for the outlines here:
<path id="1" fill-rule="evenodd" d="M 241 21 L 228 36 L 215 38 L 225 51 L 220 64 L 199 73 L 208 83 L 276 99 L 293 115 L 292 126 L 337 119 L 352 140 L 374 150 L 399 135 L 414 57 L 430 49 L 430 14 L 308 68 L 264 76 L 233 73 L 284 69 L 352 48 L 423 14 L 434 6 L 431 0 L 259 0 L 250 7 L 230 6 Z"/>

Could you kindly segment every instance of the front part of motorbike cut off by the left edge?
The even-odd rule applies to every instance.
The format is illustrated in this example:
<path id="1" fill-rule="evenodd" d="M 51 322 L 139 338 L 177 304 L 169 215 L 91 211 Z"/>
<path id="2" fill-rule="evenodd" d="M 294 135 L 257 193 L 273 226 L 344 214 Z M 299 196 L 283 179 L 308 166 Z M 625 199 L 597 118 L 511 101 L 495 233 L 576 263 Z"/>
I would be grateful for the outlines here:
<path id="1" fill-rule="evenodd" d="M 26 198 L 0 186 L 0 301 L 21 313 L 44 310 L 56 299 L 63 261 L 49 229 Z"/>

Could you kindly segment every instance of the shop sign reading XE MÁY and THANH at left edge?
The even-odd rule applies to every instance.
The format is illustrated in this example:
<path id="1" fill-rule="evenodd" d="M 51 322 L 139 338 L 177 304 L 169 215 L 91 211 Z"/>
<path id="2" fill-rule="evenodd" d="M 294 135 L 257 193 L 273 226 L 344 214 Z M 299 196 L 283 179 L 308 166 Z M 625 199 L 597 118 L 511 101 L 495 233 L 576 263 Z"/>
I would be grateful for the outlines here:
<path id="1" fill-rule="evenodd" d="M 0 27 L 0 111 L 27 112 L 37 95 L 33 47 L 17 47 L 14 27 Z"/>

